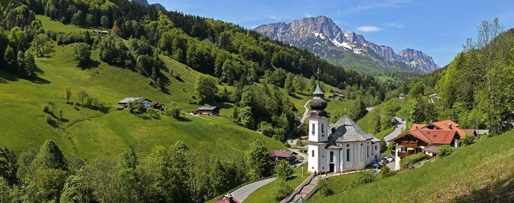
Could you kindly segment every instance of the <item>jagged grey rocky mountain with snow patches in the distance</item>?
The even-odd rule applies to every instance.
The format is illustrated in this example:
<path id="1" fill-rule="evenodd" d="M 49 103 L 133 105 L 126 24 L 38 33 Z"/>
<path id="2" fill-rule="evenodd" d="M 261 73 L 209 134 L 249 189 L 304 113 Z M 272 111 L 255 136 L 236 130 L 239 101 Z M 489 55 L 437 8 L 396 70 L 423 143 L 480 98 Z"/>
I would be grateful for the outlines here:
<path id="1" fill-rule="evenodd" d="M 254 30 L 321 57 L 334 58 L 341 55 L 337 52 L 346 51 L 364 55 L 386 67 L 403 63 L 421 73 L 439 69 L 432 57 L 421 51 L 406 49 L 396 54 L 391 47 L 376 45 L 353 31 L 342 32 L 331 18 L 325 16 L 303 18 L 289 24 L 261 25 Z"/>

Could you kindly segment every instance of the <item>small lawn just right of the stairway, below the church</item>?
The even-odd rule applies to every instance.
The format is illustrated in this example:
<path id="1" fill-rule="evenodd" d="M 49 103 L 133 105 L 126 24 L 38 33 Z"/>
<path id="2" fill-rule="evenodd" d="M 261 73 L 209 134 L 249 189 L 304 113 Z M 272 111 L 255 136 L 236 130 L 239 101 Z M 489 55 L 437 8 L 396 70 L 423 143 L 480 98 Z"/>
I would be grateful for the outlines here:
<path id="1" fill-rule="evenodd" d="M 356 173 L 349 173 L 344 175 L 338 175 L 334 177 L 328 178 L 328 188 L 333 192 L 333 194 L 340 194 L 345 192 L 347 189 L 346 187 L 350 187 L 350 183 L 352 179 L 358 177 L 361 173 L 370 173 L 374 174 L 374 170 L 370 171 L 362 171 L 362 172 L 356 172 Z M 317 199 L 325 197 L 324 194 L 321 194 L 320 191 L 316 191 L 313 196 L 311 196 L 308 201 L 316 201 Z"/>

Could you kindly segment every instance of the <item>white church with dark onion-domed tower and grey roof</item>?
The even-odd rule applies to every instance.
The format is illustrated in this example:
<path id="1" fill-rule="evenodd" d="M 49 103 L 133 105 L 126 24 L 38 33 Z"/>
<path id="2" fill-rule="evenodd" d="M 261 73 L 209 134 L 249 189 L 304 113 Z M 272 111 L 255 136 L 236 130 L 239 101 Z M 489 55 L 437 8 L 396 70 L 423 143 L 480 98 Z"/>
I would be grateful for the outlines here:
<path id="1" fill-rule="evenodd" d="M 308 171 L 333 173 L 366 167 L 380 158 L 380 139 L 364 132 L 344 115 L 328 125 L 327 101 L 319 80 L 310 101 Z"/>

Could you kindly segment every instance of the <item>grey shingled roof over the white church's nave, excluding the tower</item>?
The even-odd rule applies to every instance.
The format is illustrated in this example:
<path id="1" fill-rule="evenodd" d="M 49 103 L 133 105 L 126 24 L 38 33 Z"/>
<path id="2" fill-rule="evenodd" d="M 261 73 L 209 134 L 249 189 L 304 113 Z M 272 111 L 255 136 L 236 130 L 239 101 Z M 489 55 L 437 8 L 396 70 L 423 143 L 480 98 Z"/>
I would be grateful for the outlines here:
<path id="1" fill-rule="evenodd" d="M 357 126 L 357 124 L 355 124 L 355 122 L 347 115 L 339 118 L 339 120 L 330 127 L 332 133 L 328 136 L 328 139 L 338 143 L 376 139 L 373 135 L 360 129 L 360 127 Z"/>

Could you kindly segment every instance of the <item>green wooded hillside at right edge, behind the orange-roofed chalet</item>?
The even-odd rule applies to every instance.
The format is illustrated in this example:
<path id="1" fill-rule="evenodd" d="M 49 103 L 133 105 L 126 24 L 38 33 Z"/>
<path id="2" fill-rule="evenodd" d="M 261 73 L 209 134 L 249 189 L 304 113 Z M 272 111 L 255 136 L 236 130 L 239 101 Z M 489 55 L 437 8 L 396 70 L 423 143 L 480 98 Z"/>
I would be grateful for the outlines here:
<path id="1" fill-rule="evenodd" d="M 469 38 L 448 66 L 402 85 L 416 97 L 411 123 L 452 119 L 461 128 L 507 130 L 505 117 L 514 110 L 513 40 L 514 30 L 504 31 L 498 18 L 484 21 L 476 42 Z M 419 96 L 432 93 L 440 96 L 434 104 Z"/>

